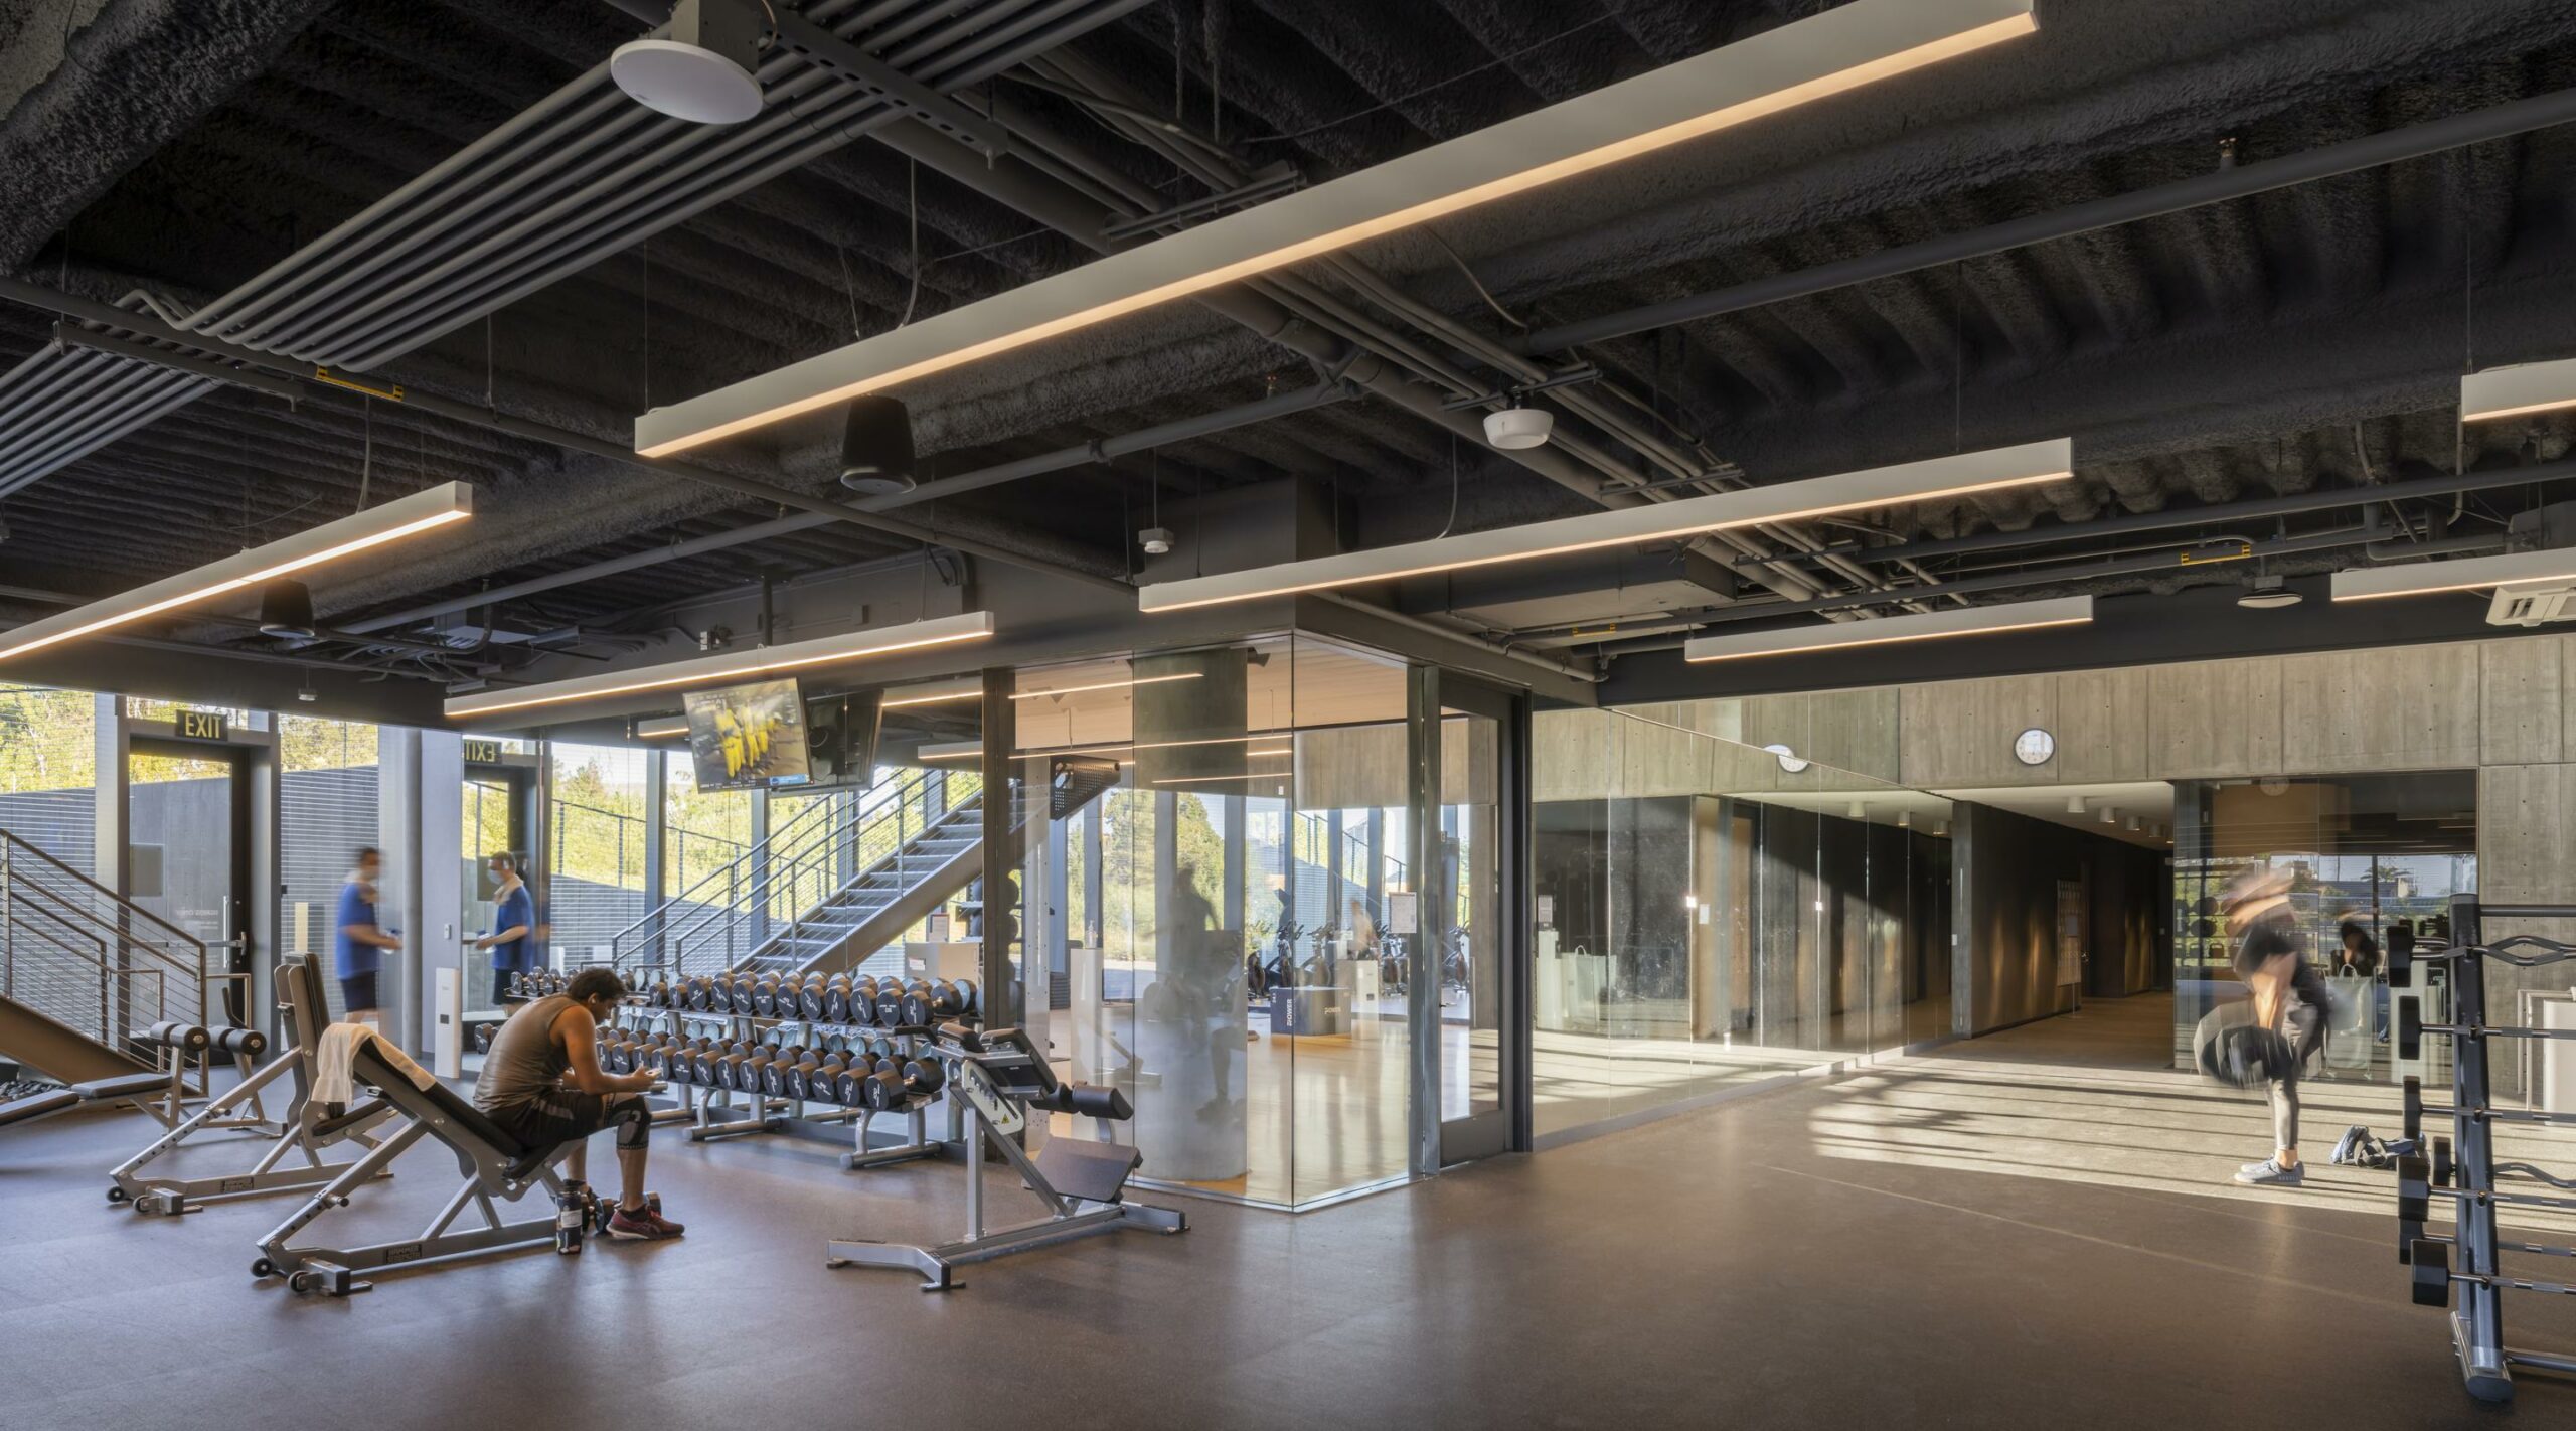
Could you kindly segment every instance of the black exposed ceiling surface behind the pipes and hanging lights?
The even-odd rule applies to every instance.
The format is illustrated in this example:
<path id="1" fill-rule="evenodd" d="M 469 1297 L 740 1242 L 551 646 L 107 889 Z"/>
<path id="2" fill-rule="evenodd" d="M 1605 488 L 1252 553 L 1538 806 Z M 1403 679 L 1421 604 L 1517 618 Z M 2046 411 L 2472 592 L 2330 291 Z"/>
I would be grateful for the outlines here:
<path id="1" fill-rule="evenodd" d="M 0 72 L 46 101 L 0 111 L 0 162 L 13 170 L 0 183 L 33 186 L 21 191 L 59 209 L 46 232 L 0 227 L 0 271 L 100 299 L 149 286 L 204 302 L 647 28 L 598 0 L 304 8 L 309 18 L 260 49 L 252 41 L 265 31 L 247 21 L 242 36 L 209 39 L 209 15 L 229 5 L 108 0 L 103 23 L 116 34 L 93 36 L 95 52 L 75 44 L 77 62 L 52 75 L 31 52 L 26 75 Z M 1188 124 L 1244 168 L 1291 162 L 1319 180 L 1826 8 L 1185 0 L 1144 5 L 1069 49 L 1164 108 L 1177 54 Z M 0 39 L 13 28 L 26 36 L 31 21 L 13 10 L 26 8 L 0 5 Z M 2002 52 L 1463 214 L 1437 224 L 1437 242 L 1399 235 L 1360 258 L 1453 322 L 1510 338 L 1517 325 L 1723 289 L 2205 173 L 2223 139 L 2241 162 L 2262 162 L 2576 83 L 2576 3 L 2563 0 L 2043 0 L 2040 18 L 2038 36 Z M 155 57 L 185 80 L 167 83 L 160 101 L 139 93 Z M 1038 85 L 999 88 L 1136 186 L 1170 201 L 1206 193 L 1072 101 Z M 0 103 L 8 98 L 0 90 Z M 113 124 L 70 126 L 62 113 L 80 103 Z M 2076 438 L 2074 482 L 1888 513 L 1896 536 L 2555 462 L 2568 423 L 2496 423 L 2463 438 L 2452 384 L 2463 366 L 2563 356 L 2553 343 L 2576 320 L 2571 165 L 2576 134 L 2548 129 L 1577 356 L 1651 410 L 1643 425 L 1672 449 L 1754 482 L 1953 443 Z M 451 333 L 384 376 L 474 402 L 489 392 L 505 413 L 623 441 L 649 402 L 827 351 L 853 330 L 881 333 L 907 307 L 938 312 L 1084 258 L 1087 248 L 1002 201 L 860 139 L 603 258 L 489 325 Z M 1340 276 L 1314 266 L 1301 276 L 1368 309 Z M 41 348 L 49 325 L 0 304 L 0 366 Z M 1455 346 L 1430 346 L 1479 382 L 1499 382 Z M 1306 358 L 1172 304 L 987 371 L 943 374 L 907 397 L 930 454 L 925 474 L 935 477 L 1311 382 Z M 1636 474 L 1662 477 L 1631 443 L 1600 446 Z M 829 490 L 814 433 L 796 433 L 778 462 L 783 480 Z M 1453 462 L 1461 529 L 1589 511 L 1564 485 L 1476 443 L 1458 451 L 1419 415 L 1360 397 L 1175 443 L 1159 459 L 1090 464 L 904 516 L 956 539 L 1118 572 L 1149 482 L 1182 495 L 1327 480 L 1350 498 L 1350 536 L 1376 544 L 1443 526 Z M 435 480 L 477 482 L 484 511 L 505 521 L 477 521 L 471 541 L 440 562 L 319 580 L 327 619 L 781 516 L 386 402 L 317 400 L 289 413 L 224 389 L 0 503 L 13 531 L 0 580 L 116 590 L 355 511 L 361 492 L 381 500 Z M 2530 500 L 2486 492 L 2455 513 L 2445 503 L 2442 516 L 2452 531 L 2476 531 Z M 510 619 L 523 629 L 605 627 L 762 572 L 912 547 L 824 526 L 559 588 Z M 2290 557 L 2280 570 L 2347 557 Z M 1929 562 L 1917 575 L 1984 572 L 1996 560 L 2022 557 Z M 2172 580 L 2202 578 L 2076 585 Z"/>

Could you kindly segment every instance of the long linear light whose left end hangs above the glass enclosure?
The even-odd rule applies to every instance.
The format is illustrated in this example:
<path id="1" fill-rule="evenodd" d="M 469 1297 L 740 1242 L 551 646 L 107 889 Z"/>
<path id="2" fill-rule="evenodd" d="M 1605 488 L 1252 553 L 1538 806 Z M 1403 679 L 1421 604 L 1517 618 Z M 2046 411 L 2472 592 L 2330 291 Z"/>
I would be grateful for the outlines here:
<path id="1" fill-rule="evenodd" d="M 1829 10 L 1839 15 L 1842 10 Z M 1870 511 L 1896 503 L 1932 498 L 1958 498 L 1965 492 L 1991 492 L 1996 487 L 2027 487 L 2074 474 L 2074 443 L 2050 438 L 1991 451 L 1963 451 L 1929 462 L 1904 462 L 1899 467 L 1870 467 L 1865 472 L 1839 472 L 1806 482 L 1772 482 L 1770 487 L 1744 487 L 1713 498 L 1682 498 L 1677 503 L 1646 503 L 1602 513 L 1569 516 L 1558 521 L 1533 521 L 1528 526 L 1502 526 L 1494 531 L 1468 531 L 1463 536 L 1435 536 L 1430 541 L 1404 541 L 1399 547 L 1373 547 L 1368 552 L 1342 552 L 1306 562 L 1280 562 L 1244 572 L 1218 572 L 1211 578 L 1162 580 L 1136 590 L 1141 611 L 1188 611 L 1193 606 L 1218 606 L 1226 601 L 1262 601 L 1301 590 L 1358 585 L 1373 580 L 1414 578 L 1425 572 L 1450 572 L 1461 567 L 1492 567 L 1497 562 L 1528 562 L 1595 547 L 1636 547 L 1641 541 L 1672 541 L 1703 531 L 1731 526 L 1759 526 L 1767 521 L 1798 521 L 1842 511 Z"/>

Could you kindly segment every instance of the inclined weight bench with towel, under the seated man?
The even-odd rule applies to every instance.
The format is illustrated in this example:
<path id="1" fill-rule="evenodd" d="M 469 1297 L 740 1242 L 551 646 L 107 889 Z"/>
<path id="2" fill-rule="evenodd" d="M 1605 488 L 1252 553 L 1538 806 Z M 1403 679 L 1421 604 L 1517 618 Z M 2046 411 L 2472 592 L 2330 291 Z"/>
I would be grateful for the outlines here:
<path id="1" fill-rule="evenodd" d="M 556 1227 L 556 1199 L 564 1194 L 554 1173 L 556 1158 L 572 1153 L 569 1142 L 554 1147 L 526 1147 L 482 1116 L 482 1111 L 451 1093 L 443 1083 L 420 1088 L 407 1073 L 394 1067 L 384 1052 L 368 1042 L 350 1057 L 350 1078 L 374 1083 L 392 1114 L 404 1124 L 371 1147 L 337 1178 L 322 1186 L 294 1217 L 260 1238 L 260 1261 L 250 1263 L 252 1276 L 283 1276 L 294 1292 L 348 1297 L 368 1292 L 361 1271 L 386 1266 L 451 1263 L 477 1256 L 520 1248 L 551 1248 Z M 374 1243 L 366 1248 L 299 1248 L 289 1238 L 335 1207 L 348 1207 L 355 1189 L 384 1173 L 422 1137 L 435 1137 L 456 1155 L 464 1186 L 446 1202 L 438 1217 L 417 1235 L 399 1243 Z M 546 1191 L 546 1214 L 520 1222 L 502 1222 L 492 1199 L 518 1202 L 531 1191 Z M 453 1232 L 456 1217 L 474 1207 L 484 1225 Z"/>

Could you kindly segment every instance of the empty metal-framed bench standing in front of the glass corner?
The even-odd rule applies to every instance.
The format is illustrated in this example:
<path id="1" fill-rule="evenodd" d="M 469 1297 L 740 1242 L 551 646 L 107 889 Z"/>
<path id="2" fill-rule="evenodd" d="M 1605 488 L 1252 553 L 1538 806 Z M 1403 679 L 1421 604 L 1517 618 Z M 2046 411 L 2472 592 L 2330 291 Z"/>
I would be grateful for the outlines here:
<path id="1" fill-rule="evenodd" d="M 835 1238 L 824 1266 L 899 1266 L 922 1276 L 922 1292 L 963 1287 L 956 1269 L 1030 1248 L 1092 1238 L 1097 1232 L 1188 1232 L 1190 1220 L 1170 1207 L 1126 1202 L 1126 1183 L 1141 1158 L 1115 1142 L 1054 1137 L 1030 1158 L 1020 1147 L 1028 1114 L 1077 1114 L 1103 1122 L 1136 1116 L 1126 1093 L 1087 1083 L 1061 1083 L 1046 1055 L 1020 1029 L 976 1031 L 943 1024 L 933 1042 L 948 1065 L 948 1088 L 966 1109 L 966 1235 L 933 1248 Z M 1043 1217 L 1007 1227 L 984 1225 L 984 1150 L 1010 1163 L 1028 1191 L 1046 1207 Z"/>

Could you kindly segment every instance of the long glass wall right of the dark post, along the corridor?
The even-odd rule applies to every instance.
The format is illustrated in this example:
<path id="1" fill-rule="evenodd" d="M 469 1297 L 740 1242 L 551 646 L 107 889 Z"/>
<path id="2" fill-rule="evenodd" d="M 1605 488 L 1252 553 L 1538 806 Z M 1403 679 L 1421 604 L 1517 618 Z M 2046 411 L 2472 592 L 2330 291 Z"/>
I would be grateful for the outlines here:
<path id="1" fill-rule="evenodd" d="M 1533 722 L 1540 1140 L 1950 1031 L 1950 802 L 1646 712 Z"/>

